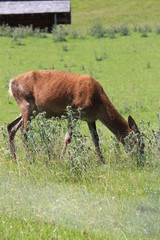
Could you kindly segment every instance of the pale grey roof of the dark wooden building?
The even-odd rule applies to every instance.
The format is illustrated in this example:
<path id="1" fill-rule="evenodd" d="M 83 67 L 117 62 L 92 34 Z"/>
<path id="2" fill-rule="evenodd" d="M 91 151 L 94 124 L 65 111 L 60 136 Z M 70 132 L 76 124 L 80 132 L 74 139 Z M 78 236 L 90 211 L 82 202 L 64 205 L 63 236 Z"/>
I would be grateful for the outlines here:
<path id="1" fill-rule="evenodd" d="M 34 13 L 68 13 L 70 0 L 36 0 L 36 1 L 2 1 L 0 15 L 34 14 Z"/>

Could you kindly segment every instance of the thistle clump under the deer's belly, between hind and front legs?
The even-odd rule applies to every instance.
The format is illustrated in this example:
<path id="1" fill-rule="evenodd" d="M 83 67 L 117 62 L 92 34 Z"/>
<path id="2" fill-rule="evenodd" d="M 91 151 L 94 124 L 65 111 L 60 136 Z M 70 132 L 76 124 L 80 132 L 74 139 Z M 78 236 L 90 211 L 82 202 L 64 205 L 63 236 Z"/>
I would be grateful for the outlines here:
<path id="1" fill-rule="evenodd" d="M 79 116 L 81 110 L 78 110 Z M 81 121 L 74 118 L 74 112 L 71 107 L 67 107 L 68 118 L 71 119 L 72 142 L 68 146 L 63 162 L 65 160 L 66 168 L 73 174 L 79 176 L 87 167 L 87 160 L 90 155 L 91 147 L 87 144 L 87 138 L 79 131 Z M 28 131 L 25 133 L 27 141 L 25 145 L 25 158 L 29 162 L 38 160 L 46 164 L 53 164 L 56 159 L 60 159 L 63 147 L 63 139 L 66 133 L 66 121 L 59 118 L 46 119 L 45 113 L 40 113 L 28 123 Z M 7 141 L 7 136 L 3 134 L 3 141 Z M 1 150 L 1 149 L 0 149 Z M 8 150 L 7 153 L 8 155 Z M 60 161 L 60 160 L 59 160 Z"/>

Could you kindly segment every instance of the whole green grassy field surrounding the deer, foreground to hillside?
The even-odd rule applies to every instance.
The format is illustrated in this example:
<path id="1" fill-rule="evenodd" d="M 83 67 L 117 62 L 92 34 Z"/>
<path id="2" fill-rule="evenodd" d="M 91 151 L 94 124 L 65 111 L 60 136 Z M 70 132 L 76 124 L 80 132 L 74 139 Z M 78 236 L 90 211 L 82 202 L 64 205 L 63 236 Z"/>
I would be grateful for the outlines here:
<path id="1" fill-rule="evenodd" d="M 160 238 L 158 3 L 108 2 L 101 1 L 98 7 L 97 1 L 91 7 L 86 1 L 72 2 L 73 27 L 79 34 L 75 39 L 71 33 L 63 42 L 55 42 L 52 34 L 0 36 L 0 239 Z M 128 18 L 133 9 L 136 14 Z M 130 33 L 116 33 L 115 38 L 88 36 L 90 16 L 92 22 L 103 18 L 106 27 L 126 22 Z M 153 32 L 144 37 L 133 31 L 132 24 L 150 24 Z M 105 165 L 97 162 L 84 122 L 77 123 L 73 141 L 61 158 L 66 121 L 46 122 L 43 117 L 33 121 L 28 150 L 17 134 L 17 162 L 12 164 L 5 127 L 19 109 L 8 95 L 8 83 L 31 69 L 94 76 L 124 118 L 131 114 L 147 136 L 144 165 L 137 166 L 139 156 L 126 154 L 99 122 Z M 35 127 L 36 121 L 43 122 L 41 127 Z"/>

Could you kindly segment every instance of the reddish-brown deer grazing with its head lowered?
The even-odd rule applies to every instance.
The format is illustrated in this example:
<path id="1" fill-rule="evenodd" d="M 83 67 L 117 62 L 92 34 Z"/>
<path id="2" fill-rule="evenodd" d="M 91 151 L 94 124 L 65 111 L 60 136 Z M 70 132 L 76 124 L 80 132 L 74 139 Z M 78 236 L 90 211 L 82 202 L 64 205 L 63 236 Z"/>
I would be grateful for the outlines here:
<path id="1" fill-rule="evenodd" d="M 89 75 L 58 70 L 29 71 L 10 81 L 9 92 L 14 96 L 21 111 L 21 114 L 7 125 L 12 161 L 16 159 L 14 136 L 21 126 L 24 133 L 27 131 L 27 122 L 33 111 L 46 112 L 46 117 L 50 118 L 65 115 L 67 106 L 71 106 L 74 112 L 81 108 L 81 119 L 88 123 L 96 153 L 99 161 L 103 163 L 96 120 L 100 120 L 123 145 L 131 131 L 133 131 L 133 141 L 135 133 L 140 134 L 133 118 L 129 116 L 127 123 L 110 102 L 101 85 Z M 70 118 L 67 127 L 63 154 L 72 137 Z M 138 149 L 141 153 L 143 148 L 144 144 L 139 142 Z"/>

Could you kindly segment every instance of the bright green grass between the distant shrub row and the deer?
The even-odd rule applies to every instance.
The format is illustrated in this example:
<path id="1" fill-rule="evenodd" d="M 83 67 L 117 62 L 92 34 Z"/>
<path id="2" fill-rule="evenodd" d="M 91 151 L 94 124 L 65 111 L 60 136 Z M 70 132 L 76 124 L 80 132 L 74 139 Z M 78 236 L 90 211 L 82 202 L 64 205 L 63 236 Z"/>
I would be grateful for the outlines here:
<path id="1" fill-rule="evenodd" d="M 48 68 L 91 74 L 124 116 L 131 113 L 136 114 L 137 121 L 156 122 L 160 107 L 158 34 L 149 33 L 148 38 L 133 32 L 127 37 L 117 35 L 115 39 L 68 37 L 67 51 L 64 51 L 64 43 L 55 43 L 52 36 L 35 37 L 34 41 L 32 37 L 22 38 L 22 45 L 14 45 L 12 38 L 7 37 L 1 37 L 0 41 L 3 56 L 0 60 L 1 124 L 4 119 L 12 119 L 17 109 L 7 95 L 9 79 L 31 69 Z M 6 106 L 10 109 L 9 117 L 5 114 Z"/>

